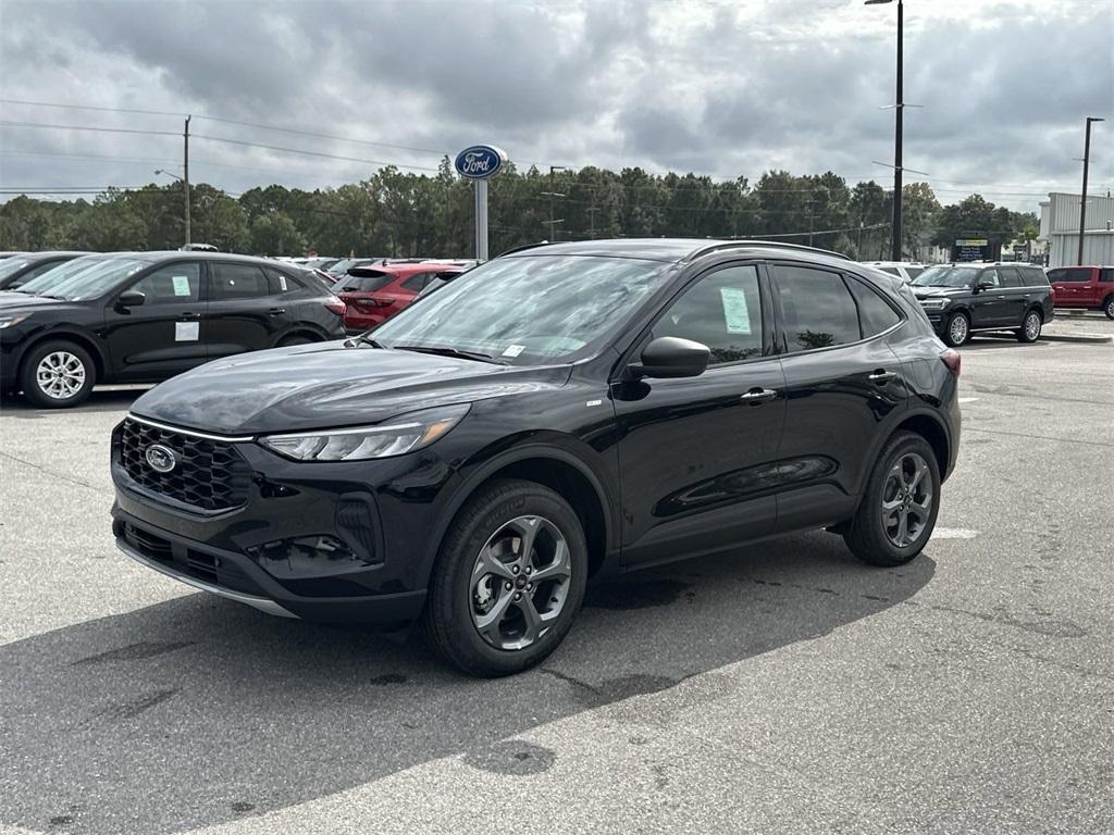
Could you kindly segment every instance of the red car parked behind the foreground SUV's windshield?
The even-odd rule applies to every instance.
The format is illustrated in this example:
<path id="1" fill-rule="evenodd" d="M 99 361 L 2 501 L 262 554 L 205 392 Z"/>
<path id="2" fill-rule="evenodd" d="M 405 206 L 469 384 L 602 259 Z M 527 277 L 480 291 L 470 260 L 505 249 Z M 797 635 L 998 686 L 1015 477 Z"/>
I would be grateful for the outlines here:
<path id="1" fill-rule="evenodd" d="M 389 320 L 417 298 L 427 284 L 442 275 L 456 275 L 465 267 L 422 263 L 377 264 L 352 267 L 333 287 L 346 305 L 344 327 L 362 333 Z"/>

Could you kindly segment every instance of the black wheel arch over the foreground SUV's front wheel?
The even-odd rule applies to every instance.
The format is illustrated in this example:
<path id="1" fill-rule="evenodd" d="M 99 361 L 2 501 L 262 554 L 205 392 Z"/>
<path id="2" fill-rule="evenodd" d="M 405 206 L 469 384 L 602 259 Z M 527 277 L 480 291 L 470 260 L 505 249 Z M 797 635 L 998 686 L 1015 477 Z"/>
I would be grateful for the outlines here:
<path id="1" fill-rule="evenodd" d="M 580 519 L 588 542 L 589 576 L 608 564 L 617 552 L 610 494 L 603 480 L 576 454 L 548 445 L 530 444 L 506 452 L 469 474 L 439 514 L 430 537 L 423 573 L 428 578 L 448 536 L 452 520 L 483 485 L 498 479 L 522 479 L 544 484 L 564 498 Z"/>

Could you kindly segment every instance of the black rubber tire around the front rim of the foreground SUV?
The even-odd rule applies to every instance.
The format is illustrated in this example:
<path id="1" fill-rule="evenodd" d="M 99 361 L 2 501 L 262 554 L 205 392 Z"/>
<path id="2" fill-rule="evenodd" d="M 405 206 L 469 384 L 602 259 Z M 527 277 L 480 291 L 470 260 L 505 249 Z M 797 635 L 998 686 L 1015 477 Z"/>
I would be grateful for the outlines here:
<path id="1" fill-rule="evenodd" d="M 478 587 L 472 586 L 473 571 L 478 568 L 481 551 L 489 547 L 492 539 L 506 530 L 509 523 L 524 517 L 541 518 L 564 537 L 568 549 L 568 586 L 564 589 L 563 603 L 556 610 L 553 623 L 546 627 L 540 637 L 522 648 L 506 649 L 489 642 L 480 635 L 479 625 L 473 622 L 473 617 L 481 616 L 482 612 L 477 612 L 477 608 L 483 602 L 477 597 Z M 541 536 L 538 534 L 537 541 L 540 542 L 540 539 Z M 505 541 L 514 540 L 510 538 Z M 521 544 L 518 547 L 521 548 Z M 538 550 L 540 551 L 540 546 Z M 584 529 L 568 502 L 549 488 L 531 481 L 492 482 L 465 504 L 444 538 L 430 577 L 429 598 L 422 613 L 426 635 L 439 655 L 469 675 L 497 677 L 529 669 L 553 652 L 568 633 L 584 601 L 587 573 L 588 547 Z M 485 574 L 480 583 L 485 582 L 485 577 L 494 578 L 495 574 Z M 502 600 L 504 593 L 508 598 L 516 596 L 514 599 L 519 599 L 517 587 L 510 579 L 507 578 L 506 587 L 504 580 L 494 581 L 494 593 L 498 600 Z M 516 578 L 516 581 L 518 579 L 520 578 Z M 490 579 L 488 583 L 491 583 Z M 539 595 L 545 598 L 550 593 L 553 592 L 539 584 L 534 590 L 531 600 Z M 554 601 L 543 599 L 541 602 Z M 537 608 L 532 602 L 530 606 L 536 612 Z M 491 608 L 496 607 L 497 602 L 492 602 Z M 518 605 L 507 602 L 501 608 L 510 613 L 507 617 L 511 621 L 514 615 L 522 616 L 525 625 L 525 610 Z M 499 623 L 501 622 L 504 621 L 500 620 Z M 499 629 L 498 625 L 496 629 Z"/>

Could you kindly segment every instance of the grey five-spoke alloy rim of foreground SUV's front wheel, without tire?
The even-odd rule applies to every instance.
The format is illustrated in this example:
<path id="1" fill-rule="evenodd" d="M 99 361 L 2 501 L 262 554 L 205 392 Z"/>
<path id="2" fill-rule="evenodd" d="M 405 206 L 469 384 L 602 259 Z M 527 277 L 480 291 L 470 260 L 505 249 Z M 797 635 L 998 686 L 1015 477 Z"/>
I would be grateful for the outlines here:
<path id="1" fill-rule="evenodd" d="M 544 517 L 517 517 L 480 549 L 469 581 L 469 610 L 497 649 L 529 647 L 553 628 L 568 597 L 568 542 Z"/>

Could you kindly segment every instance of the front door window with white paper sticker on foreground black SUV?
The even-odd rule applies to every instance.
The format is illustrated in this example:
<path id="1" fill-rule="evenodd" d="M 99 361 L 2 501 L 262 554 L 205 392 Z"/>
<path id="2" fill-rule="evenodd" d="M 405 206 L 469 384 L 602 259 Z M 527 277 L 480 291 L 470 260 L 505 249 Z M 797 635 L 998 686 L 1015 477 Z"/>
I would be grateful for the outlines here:
<path id="1" fill-rule="evenodd" d="M 709 346 L 709 363 L 762 355 L 762 303 L 754 266 L 706 275 L 682 294 L 654 325 L 653 338 L 680 336 Z"/>

